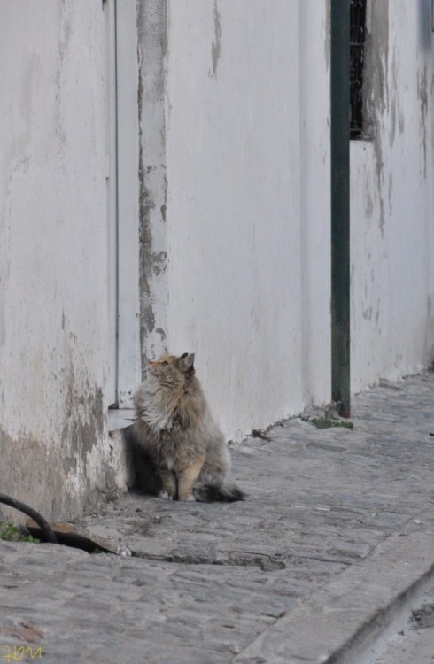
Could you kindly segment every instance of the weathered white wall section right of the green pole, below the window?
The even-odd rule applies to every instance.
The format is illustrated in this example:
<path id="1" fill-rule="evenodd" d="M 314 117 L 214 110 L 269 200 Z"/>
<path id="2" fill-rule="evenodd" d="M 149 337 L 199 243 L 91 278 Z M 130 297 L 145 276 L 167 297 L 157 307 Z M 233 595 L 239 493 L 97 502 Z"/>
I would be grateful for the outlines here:
<path id="1" fill-rule="evenodd" d="M 372 3 L 372 139 L 352 143 L 352 387 L 434 356 L 431 3 Z"/>

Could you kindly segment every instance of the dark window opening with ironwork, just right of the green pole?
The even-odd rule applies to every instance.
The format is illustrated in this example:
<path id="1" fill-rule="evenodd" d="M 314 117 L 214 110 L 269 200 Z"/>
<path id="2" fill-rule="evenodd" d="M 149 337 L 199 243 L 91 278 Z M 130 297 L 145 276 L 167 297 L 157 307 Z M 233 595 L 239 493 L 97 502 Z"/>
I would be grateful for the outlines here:
<path id="1" fill-rule="evenodd" d="M 363 138 L 363 69 L 367 0 L 350 0 L 350 138 Z"/>

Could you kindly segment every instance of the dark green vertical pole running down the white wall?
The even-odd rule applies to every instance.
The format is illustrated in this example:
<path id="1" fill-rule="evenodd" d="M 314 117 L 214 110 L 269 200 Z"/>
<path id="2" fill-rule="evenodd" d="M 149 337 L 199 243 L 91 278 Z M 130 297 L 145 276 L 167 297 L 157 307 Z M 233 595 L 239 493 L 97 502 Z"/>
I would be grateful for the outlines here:
<path id="1" fill-rule="evenodd" d="M 331 393 L 350 416 L 350 0 L 330 0 Z"/>

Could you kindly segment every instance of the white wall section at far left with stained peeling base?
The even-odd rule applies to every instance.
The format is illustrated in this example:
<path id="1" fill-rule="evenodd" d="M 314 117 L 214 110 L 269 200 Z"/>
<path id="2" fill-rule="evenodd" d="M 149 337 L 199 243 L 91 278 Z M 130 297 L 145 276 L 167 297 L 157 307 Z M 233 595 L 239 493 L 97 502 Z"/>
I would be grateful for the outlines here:
<path id="1" fill-rule="evenodd" d="M 0 490 L 67 518 L 112 465 L 105 18 L 101 0 L 0 13 Z"/>

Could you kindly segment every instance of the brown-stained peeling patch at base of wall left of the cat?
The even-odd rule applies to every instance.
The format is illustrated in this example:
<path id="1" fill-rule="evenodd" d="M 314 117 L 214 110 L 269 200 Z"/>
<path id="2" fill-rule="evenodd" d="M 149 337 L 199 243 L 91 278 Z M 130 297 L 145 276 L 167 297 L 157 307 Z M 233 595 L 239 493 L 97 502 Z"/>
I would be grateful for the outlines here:
<path id="1" fill-rule="evenodd" d="M 99 447 L 106 435 L 102 390 L 88 382 L 84 391 L 80 381 L 74 376 L 71 380 L 74 387 L 66 396 L 65 424 L 56 440 L 39 440 L 29 433 L 11 436 L 0 428 L 0 458 L 8 469 L 2 490 L 49 518 L 74 518 L 92 504 L 97 490 L 116 483 L 114 475 L 103 469 Z"/>

